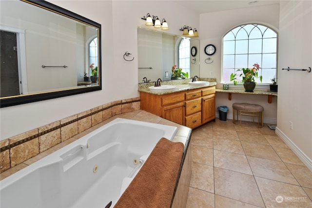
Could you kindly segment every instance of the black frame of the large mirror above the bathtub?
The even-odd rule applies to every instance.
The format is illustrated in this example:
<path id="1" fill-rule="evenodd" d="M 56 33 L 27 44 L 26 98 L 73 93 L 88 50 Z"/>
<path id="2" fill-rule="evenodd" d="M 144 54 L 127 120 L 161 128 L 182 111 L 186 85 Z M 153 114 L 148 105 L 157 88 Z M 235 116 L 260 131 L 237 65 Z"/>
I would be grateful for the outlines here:
<path id="1" fill-rule="evenodd" d="M 15 95 L 15 96 L 9 96 L 9 97 L 3 97 L 0 98 L 0 107 L 9 107 L 9 106 L 15 106 L 25 103 L 31 103 L 31 102 L 37 102 L 42 100 L 48 100 L 58 97 L 64 97 L 69 95 L 78 95 L 81 93 L 89 93 L 93 91 L 102 90 L 102 84 L 101 84 L 101 24 L 91 20 L 84 18 L 76 13 L 73 13 L 67 9 L 64 9 L 62 7 L 59 7 L 55 4 L 52 4 L 50 2 L 47 2 L 45 0 L 21 0 L 26 3 L 33 4 L 34 6 L 38 6 L 41 9 L 46 9 L 51 12 L 57 13 L 59 15 L 62 15 L 64 17 L 75 19 L 79 22 L 91 25 L 93 27 L 98 28 L 98 85 L 96 86 L 89 86 L 89 87 L 78 87 L 73 89 L 67 89 L 67 90 L 52 90 L 48 92 L 42 92 L 37 94 L 27 94 L 27 95 Z"/>

